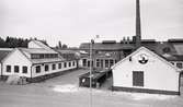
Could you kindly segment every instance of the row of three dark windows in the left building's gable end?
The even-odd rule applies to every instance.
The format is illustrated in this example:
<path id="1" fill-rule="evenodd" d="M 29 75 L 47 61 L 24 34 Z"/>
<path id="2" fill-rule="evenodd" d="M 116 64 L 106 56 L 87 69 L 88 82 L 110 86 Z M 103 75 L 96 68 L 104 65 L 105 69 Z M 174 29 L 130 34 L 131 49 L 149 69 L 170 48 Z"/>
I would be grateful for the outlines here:
<path id="1" fill-rule="evenodd" d="M 12 67 L 11 66 L 7 66 L 7 72 L 12 72 Z M 20 67 L 19 66 L 14 66 L 14 73 L 20 73 Z M 22 67 L 22 73 L 27 73 L 27 67 L 26 66 Z"/>

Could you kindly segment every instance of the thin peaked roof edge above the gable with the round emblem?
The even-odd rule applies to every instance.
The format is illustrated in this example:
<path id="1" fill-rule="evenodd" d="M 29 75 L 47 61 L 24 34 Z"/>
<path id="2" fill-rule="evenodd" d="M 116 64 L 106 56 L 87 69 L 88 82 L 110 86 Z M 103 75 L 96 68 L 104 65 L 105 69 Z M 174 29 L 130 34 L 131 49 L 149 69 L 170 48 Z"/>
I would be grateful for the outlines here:
<path id="1" fill-rule="evenodd" d="M 140 51 L 140 50 L 142 50 L 142 49 L 149 51 L 150 54 L 155 55 L 155 56 L 158 57 L 160 60 L 162 60 L 163 62 L 165 62 L 167 64 L 169 64 L 170 67 L 174 68 L 176 71 L 181 72 L 181 70 L 180 70 L 179 68 L 176 68 L 175 66 L 171 64 L 170 62 L 168 62 L 168 60 L 165 60 L 164 58 L 162 58 L 161 56 L 157 55 L 156 52 L 149 50 L 149 49 L 146 48 L 146 47 L 140 47 L 140 48 L 138 48 L 136 51 L 134 51 L 133 54 L 128 55 L 127 57 L 125 57 L 124 59 L 122 59 L 121 61 L 118 61 L 117 63 L 115 63 L 115 64 L 112 67 L 112 69 L 114 69 L 116 66 L 118 66 L 118 64 L 122 63 L 123 61 L 129 59 L 129 57 L 134 56 L 135 54 L 137 54 L 138 51 Z"/>

